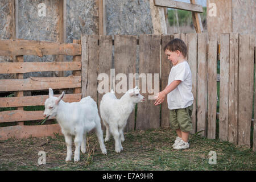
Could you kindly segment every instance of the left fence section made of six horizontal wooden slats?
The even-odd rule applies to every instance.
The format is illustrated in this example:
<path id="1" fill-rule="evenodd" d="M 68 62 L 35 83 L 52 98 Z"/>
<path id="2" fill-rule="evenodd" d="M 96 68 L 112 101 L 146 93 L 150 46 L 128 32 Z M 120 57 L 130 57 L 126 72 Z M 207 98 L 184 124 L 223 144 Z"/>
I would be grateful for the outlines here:
<path id="1" fill-rule="evenodd" d="M 0 40 L 0 55 L 14 56 L 14 63 L 0 63 L 0 74 L 17 74 L 17 79 L 0 80 L 0 92 L 15 91 L 16 97 L 0 97 L 0 107 L 17 107 L 16 110 L 0 112 L 0 123 L 18 122 L 16 126 L 0 127 L 0 139 L 10 137 L 46 137 L 60 133 L 59 124 L 24 125 L 24 121 L 42 120 L 43 111 L 25 111 L 24 106 L 42 106 L 48 96 L 24 96 L 27 90 L 75 88 L 73 94 L 66 94 L 64 101 L 81 100 L 81 44 L 43 42 L 34 40 Z M 23 55 L 71 55 L 72 62 L 24 62 Z M 28 77 L 23 73 L 44 71 L 73 71 L 69 77 Z"/>

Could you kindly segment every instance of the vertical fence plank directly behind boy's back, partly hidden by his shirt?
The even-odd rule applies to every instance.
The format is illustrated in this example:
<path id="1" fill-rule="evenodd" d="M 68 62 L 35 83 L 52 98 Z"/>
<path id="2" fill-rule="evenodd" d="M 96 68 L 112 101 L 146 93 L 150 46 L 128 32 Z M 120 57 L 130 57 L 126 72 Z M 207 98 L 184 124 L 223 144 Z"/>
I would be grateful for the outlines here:
<path id="1" fill-rule="evenodd" d="M 192 134 L 196 133 L 196 101 L 197 101 L 197 34 L 187 34 L 188 37 L 188 64 L 192 73 L 192 93 L 194 96 L 193 113 L 191 115 L 193 130 Z"/>

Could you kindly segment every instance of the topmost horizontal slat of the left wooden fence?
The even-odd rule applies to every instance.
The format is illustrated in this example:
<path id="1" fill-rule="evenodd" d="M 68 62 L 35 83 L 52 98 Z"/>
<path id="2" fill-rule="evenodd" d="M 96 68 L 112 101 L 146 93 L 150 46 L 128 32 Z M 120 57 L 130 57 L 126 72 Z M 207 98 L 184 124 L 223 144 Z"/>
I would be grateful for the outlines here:
<path id="1" fill-rule="evenodd" d="M 1 56 L 17 55 L 81 55 L 79 44 L 67 44 L 38 40 L 0 40 Z"/>

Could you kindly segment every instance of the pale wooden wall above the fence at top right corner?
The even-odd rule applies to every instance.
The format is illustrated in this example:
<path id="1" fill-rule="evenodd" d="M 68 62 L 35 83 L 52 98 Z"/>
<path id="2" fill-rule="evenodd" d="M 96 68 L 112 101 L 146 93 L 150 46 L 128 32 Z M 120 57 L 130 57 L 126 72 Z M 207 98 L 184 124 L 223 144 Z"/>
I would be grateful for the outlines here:
<path id="1" fill-rule="evenodd" d="M 216 16 L 209 16 L 209 3 L 215 3 Z M 236 32 L 256 34 L 255 0 L 207 0 L 208 34 Z"/>

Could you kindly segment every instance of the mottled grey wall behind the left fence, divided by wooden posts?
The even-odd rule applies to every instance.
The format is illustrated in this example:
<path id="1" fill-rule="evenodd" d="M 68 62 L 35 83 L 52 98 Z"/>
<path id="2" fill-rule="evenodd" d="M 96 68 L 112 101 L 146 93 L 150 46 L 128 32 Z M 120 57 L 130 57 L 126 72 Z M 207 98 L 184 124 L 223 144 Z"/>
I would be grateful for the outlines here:
<path id="1" fill-rule="evenodd" d="M 0 1 L 0 38 L 13 39 L 13 4 L 12 0 Z M 38 5 L 46 5 L 46 16 L 38 16 Z M 27 40 L 60 40 L 59 0 L 19 0 L 18 38 Z M 98 34 L 98 3 L 94 0 L 67 0 L 66 42 L 80 39 L 82 34 Z M 148 0 L 106 0 L 106 34 L 152 34 L 150 5 Z M 57 61 L 57 55 L 43 57 L 25 55 L 24 61 Z M 72 56 L 65 56 L 68 61 Z M 13 57 L 0 56 L 0 62 L 13 61 Z M 64 76 L 70 72 L 65 72 Z M 52 77 L 57 72 L 25 73 L 24 78 Z M 0 75 L 9 78 L 9 75 Z"/>

